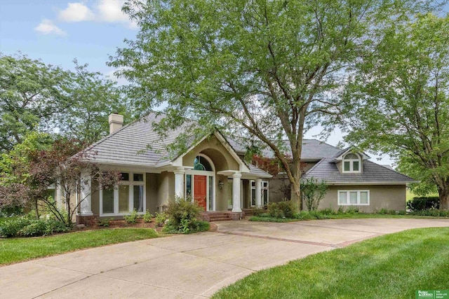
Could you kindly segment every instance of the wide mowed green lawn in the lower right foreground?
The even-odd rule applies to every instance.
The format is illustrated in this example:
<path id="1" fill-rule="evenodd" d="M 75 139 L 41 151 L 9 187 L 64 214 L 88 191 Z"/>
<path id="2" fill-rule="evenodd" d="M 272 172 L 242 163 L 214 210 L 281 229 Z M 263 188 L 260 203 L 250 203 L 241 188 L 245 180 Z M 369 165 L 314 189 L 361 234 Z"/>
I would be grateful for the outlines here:
<path id="1" fill-rule="evenodd" d="M 384 235 L 262 270 L 213 298 L 415 298 L 449 288 L 449 228 Z"/>

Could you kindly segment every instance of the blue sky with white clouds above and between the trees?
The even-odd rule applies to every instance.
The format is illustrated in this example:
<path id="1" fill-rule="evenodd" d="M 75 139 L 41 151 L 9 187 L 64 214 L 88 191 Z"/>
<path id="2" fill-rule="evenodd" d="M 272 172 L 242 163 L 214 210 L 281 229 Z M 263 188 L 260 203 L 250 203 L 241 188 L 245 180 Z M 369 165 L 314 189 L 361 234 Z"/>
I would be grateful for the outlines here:
<path id="1" fill-rule="evenodd" d="M 89 71 L 116 80 L 114 69 L 106 65 L 109 55 L 138 33 L 135 23 L 121 12 L 125 1 L 72 1 L 0 0 L 0 53 L 20 51 L 64 69 L 74 69 L 76 58 L 79 64 L 88 64 Z M 304 138 L 316 138 L 320 132 L 321 127 L 314 127 Z M 342 138 L 342 132 L 335 130 L 326 142 L 335 146 Z M 370 156 L 380 164 L 394 163 L 389 155 Z"/>

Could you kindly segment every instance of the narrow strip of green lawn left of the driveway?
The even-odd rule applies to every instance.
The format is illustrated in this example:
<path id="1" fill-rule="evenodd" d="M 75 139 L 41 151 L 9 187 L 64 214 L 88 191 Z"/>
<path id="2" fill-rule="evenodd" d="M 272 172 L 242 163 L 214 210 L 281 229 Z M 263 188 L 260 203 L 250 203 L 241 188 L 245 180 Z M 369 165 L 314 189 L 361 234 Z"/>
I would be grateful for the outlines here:
<path id="1" fill-rule="evenodd" d="M 71 232 L 48 237 L 0 239 L 0 265 L 155 237 L 158 237 L 158 234 L 149 228 L 117 228 Z"/>

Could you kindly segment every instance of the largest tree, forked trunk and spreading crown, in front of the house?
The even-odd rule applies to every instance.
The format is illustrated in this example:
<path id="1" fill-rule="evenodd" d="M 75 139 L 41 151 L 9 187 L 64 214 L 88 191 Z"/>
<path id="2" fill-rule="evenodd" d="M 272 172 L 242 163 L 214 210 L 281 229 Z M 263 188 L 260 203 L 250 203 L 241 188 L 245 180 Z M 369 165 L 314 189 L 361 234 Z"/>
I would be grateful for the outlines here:
<path id="1" fill-rule="evenodd" d="M 340 117 L 337 90 L 370 32 L 396 22 L 414 1 L 129 0 L 140 26 L 111 57 L 145 113 L 166 103 L 167 127 L 196 120 L 253 136 L 274 152 L 300 207 L 302 137 Z M 424 5 L 418 2 L 416 5 Z M 196 134 L 201 137 L 204 134 Z M 178 144 L 187 139 L 181 135 Z M 282 139 L 287 139 L 287 144 Z M 184 148 L 178 146 L 178 148 Z M 285 153 L 291 152 L 290 163 Z"/>

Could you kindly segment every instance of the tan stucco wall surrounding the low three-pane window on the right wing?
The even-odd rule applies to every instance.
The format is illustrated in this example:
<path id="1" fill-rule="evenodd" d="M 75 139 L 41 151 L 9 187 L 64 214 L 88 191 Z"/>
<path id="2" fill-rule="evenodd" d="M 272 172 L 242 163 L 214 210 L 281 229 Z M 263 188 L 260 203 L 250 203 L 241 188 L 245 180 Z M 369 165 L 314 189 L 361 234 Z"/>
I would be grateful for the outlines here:
<path id="1" fill-rule="evenodd" d="M 319 209 L 339 208 L 337 196 L 338 190 L 370 190 L 370 205 L 356 206 L 360 211 L 372 213 L 380 209 L 393 209 L 401 211 L 406 209 L 406 186 L 329 186 L 323 200 L 319 204 Z M 305 209 L 305 204 L 303 205 Z M 343 206 L 349 207 L 349 206 Z"/>

